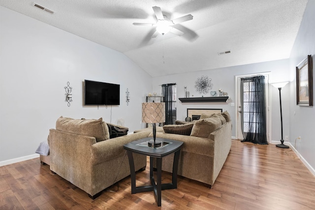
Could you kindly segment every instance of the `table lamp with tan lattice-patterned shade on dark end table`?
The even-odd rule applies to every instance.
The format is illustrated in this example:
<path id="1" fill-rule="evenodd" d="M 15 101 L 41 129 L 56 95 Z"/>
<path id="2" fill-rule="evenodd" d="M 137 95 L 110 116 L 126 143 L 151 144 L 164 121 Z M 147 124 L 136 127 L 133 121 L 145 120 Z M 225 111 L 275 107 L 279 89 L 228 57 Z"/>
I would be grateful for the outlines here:
<path id="1" fill-rule="evenodd" d="M 148 142 L 148 146 L 153 148 L 160 147 L 161 142 L 156 141 L 156 123 L 165 122 L 165 103 L 142 103 L 142 122 L 153 123 L 153 140 Z"/>

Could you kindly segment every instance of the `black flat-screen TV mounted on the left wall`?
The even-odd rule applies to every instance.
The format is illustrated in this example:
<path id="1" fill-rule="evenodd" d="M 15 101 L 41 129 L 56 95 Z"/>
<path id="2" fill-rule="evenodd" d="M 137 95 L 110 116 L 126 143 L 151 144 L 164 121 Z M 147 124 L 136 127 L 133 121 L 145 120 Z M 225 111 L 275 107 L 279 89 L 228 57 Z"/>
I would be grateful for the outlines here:
<path id="1" fill-rule="evenodd" d="M 119 105 L 120 85 L 84 81 L 84 105 Z"/>

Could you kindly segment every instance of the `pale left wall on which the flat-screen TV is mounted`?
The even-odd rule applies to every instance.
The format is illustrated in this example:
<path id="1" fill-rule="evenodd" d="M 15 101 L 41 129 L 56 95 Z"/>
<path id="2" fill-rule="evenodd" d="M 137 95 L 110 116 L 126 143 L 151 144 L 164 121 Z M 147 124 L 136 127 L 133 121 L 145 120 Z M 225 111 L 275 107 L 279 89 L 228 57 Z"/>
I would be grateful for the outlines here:
<path id="1" fill-rule="evenodd" d="M 0 6 L 0 165 L 34 154 L 60 116 L 140 124 L 152 78 L 122 53 Z M 85 80 L 120 84 L 120 106 L 83 106 Z M 67 82 L 73 88 L 70 107 Z M 126 105 L 126 89 L 130 92 Z"/>

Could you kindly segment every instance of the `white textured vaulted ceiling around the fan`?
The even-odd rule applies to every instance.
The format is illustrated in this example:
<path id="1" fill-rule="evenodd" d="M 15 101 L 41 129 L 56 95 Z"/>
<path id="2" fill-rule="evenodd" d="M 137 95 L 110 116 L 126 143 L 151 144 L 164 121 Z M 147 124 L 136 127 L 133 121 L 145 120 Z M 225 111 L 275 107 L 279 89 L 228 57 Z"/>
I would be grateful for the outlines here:
<path id="1" fill-rule="evenodd" d="M 307 0 L 0 0 L 0 5 L 124 53 L 151 76 L 289 57 Z M 159 6 L 172 20 L 191 14 L 172 33 L 151 38 Z M 218 52 L 230 50 L 230 54 Z"/>

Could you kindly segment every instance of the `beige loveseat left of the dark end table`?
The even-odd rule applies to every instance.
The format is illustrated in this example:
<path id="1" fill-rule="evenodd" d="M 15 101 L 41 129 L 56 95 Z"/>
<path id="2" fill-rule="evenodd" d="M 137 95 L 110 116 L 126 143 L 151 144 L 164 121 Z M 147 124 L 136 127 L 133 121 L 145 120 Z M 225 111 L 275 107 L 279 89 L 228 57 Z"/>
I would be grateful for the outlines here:
<path id="1" fill-rule="evenodd" d="M 59 118 L 49 131 L 50 170 L 95 199 L 103 189 L 130 175 L 126 150 L 129 142 L 150 132 L 110 138 L 108 125 L 99 120 Z M 135 170 L 144 170 L 146 156 L 133 154 Z"/>

